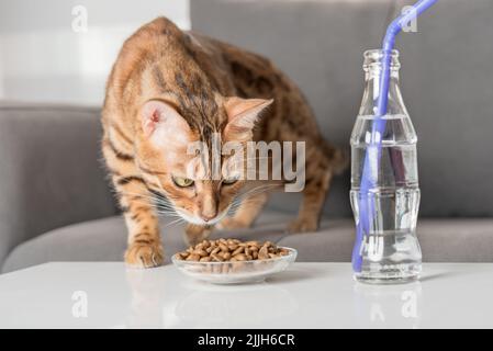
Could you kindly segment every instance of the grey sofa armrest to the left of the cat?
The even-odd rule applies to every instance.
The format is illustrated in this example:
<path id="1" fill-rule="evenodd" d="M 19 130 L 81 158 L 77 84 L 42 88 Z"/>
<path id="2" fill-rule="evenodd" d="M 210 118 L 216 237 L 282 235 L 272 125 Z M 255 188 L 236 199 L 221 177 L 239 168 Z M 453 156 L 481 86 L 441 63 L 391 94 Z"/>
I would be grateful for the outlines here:
<path id="1" fill-rule="evenodd" d="M 0 102 L 0 267 L 16 245 L 112 215 L 99 110 Z"/>

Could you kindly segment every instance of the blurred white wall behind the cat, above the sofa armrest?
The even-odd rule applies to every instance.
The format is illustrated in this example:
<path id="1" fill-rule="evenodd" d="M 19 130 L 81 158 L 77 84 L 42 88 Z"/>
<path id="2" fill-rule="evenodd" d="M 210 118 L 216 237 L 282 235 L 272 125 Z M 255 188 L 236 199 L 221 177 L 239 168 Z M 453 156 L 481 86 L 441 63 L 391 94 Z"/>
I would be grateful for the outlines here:
<path id="1" fill-rule="evenodd" d="M 123 41 L 158 15 L 190 27 L 188 0 L 0 0 L 0 99 L 101 104 Z"/>

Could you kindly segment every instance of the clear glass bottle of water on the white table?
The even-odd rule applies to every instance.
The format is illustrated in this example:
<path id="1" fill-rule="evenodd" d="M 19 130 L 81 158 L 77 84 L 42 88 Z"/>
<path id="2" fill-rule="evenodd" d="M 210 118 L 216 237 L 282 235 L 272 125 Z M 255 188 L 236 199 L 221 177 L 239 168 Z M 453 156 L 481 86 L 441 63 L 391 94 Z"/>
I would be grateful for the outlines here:
<path id="1" fill-rule="evenodd" d="M 350 138 L 350 200 L 361 234 L 357 235 L 352 265 L 356 280 L 377 284 L 414 281 L 422 268 L 416 237 L 417 137 L 399 89 L 397 50 L 391 54 L 388 112 L 380 117 L 383 133 L 372 135 L 381 59 L 382 50 L 365 53 L 366 88 Z M 363 172 L 371 178 L 369 186 L 361 186 Z"/>

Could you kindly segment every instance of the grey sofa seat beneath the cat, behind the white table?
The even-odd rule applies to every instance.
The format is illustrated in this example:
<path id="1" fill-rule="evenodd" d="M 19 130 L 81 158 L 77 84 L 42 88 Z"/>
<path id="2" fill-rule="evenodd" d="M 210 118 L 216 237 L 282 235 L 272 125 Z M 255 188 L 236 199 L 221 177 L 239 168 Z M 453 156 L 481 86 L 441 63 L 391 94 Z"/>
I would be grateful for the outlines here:
<path id="1" fill-rule="evenodd" d="M 351 219 L 324 219 L 317 233 L 284 233 L 287 214 L 265 212 L 254 229 L 214 233 L 212 238 L 271 240 L 299 250 L 299 261 L 350 260 L 355 225 Z M 183 226 L 163 220 L 166 262 L 186 248 Z M 425 261 L 493 262 L 493 219 L 432 219 L 418 222 L 418 237 Z M 121 217 L 90 220 L 48 231 L 16 247 L 3 272 L 49 261 L 121 261 L 126 247 L 126 229 Z"/>

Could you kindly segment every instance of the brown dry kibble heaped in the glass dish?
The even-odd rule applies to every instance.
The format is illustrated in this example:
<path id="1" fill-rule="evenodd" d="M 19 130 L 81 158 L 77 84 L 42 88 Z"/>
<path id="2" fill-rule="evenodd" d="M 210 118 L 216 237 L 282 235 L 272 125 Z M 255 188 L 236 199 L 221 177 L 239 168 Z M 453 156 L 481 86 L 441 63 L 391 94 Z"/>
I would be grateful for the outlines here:
<path id="1" fill-rule="evenodd" d="M 242 262 L 253 260 L 267 260 L 289 254 L 289 250 L 278 248 L 274 244 L 266 241 L 245 241 L 238 239 L 203 240 L 191 246 L 186 251 L 178 252 L 179 260 L 194 262 Z"/>

